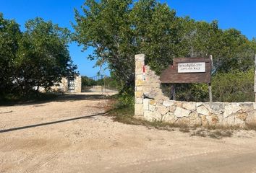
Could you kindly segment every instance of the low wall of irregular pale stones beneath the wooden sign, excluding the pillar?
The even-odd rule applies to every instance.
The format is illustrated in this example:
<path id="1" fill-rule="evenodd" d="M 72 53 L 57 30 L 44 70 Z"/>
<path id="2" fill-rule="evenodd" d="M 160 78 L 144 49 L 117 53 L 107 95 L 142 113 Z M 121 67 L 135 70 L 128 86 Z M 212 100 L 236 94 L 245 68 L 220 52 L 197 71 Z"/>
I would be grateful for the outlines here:
<path id="1" fill-rule="evenodd" d="M 254 102 L 179 102 L 143 99 L 145 120 L 159 120 L 189 126 L 239 126 L 256 122 Z"/>

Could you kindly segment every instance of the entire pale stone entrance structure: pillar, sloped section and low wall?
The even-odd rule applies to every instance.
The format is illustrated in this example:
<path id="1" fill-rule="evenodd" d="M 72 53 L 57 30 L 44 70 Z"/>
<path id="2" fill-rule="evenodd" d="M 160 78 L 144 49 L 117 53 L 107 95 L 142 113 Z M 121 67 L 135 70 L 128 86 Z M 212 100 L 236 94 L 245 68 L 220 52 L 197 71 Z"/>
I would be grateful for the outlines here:
<path id="1" fill-rule="evenodd" d="M 189 126 L 239 126 L 256 124 L 255 102 L 179 102 L 161 91 L 155 72 L 143 66 L 145 55 L 135 56 L 135 115 L 149 121 Z M 144 80 L 145 79 L 145 80 Z"/>

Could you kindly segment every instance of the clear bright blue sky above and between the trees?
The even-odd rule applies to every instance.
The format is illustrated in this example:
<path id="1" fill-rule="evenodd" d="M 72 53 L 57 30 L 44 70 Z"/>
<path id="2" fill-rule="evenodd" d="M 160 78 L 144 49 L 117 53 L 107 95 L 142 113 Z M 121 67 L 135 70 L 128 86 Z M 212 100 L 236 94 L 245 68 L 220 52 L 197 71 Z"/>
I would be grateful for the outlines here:
<path id="1" fill-rule="evenodd" d="M 28 19 L 42 17 L 51 20 L 61 27 L 72 30 L 74 8 L 80 9 L 85 0 L 1 0 L 0 12 L 7 19 L 15 19 L 23 30 Z M 255 0 L 169 0 L 166 2 L 176 10 L 180 17 L 211 22 L 217 19 L 222 29 L 231 27 L 242 31 L 249 39 L 256 37 L 256 1 Z M 80 74 L 95 76 L 98 68 L 93 68 L 93 61 L 87 59 L 92 49 L 81 52 L 76 43 L 69 45 L 72 60 L 78 66 Z M 108 74 L 108 71 L 105 71 Z"/>

